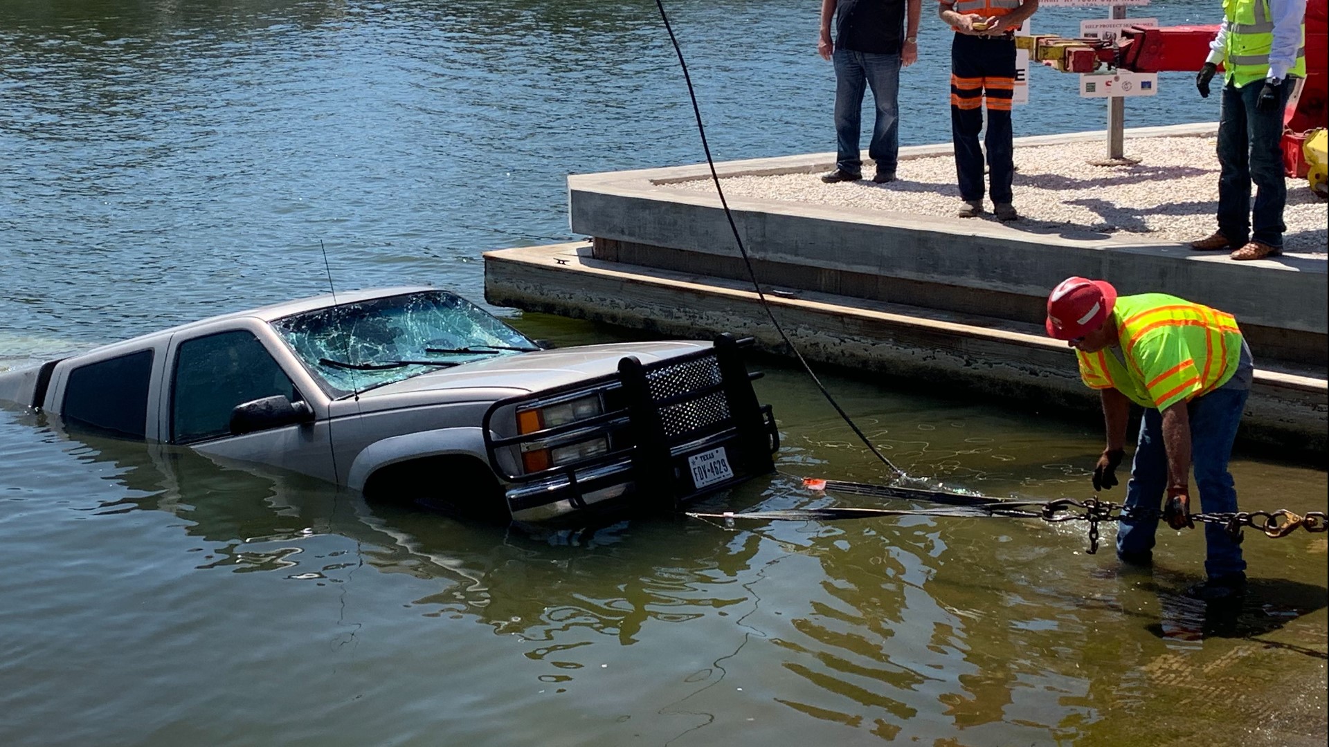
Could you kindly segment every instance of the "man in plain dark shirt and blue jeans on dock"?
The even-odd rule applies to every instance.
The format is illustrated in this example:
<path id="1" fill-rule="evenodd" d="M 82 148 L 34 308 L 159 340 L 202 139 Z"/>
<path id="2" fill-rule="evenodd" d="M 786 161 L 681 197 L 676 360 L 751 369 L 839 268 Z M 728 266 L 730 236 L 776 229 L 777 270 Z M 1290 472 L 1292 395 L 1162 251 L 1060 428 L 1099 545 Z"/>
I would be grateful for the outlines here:
<path id="1" fill-rule="evenodd" d="M 918 16 L 922 0 L 821 0 L 821 39 L 817 53 L 835 61 L 835 171 L 823 182 L 863 178 L 859 136 L 863 89 L 872 89 L 877 121 L 868 156 L 877 165 L 873 182 L 896 181 L 900 156 L 900 68 L 918 58 Z M 908 16 L 908 21 L 906 21 Z M 831 19 L 836 36 L 831 40 Z"/>

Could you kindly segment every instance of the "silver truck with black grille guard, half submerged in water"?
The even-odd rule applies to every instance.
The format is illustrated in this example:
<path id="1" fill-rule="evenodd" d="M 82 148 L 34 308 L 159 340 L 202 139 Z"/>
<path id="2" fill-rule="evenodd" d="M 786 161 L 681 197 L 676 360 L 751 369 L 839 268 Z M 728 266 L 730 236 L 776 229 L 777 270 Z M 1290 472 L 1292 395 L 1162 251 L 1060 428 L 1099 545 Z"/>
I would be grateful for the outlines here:
<path id="1" fill-rule="evenodd" d="M 295 300 L 0 372 L 66 429 L 276 467 L 369 500 L 544 521 L 773 469 L 743 340 L 542 350 L 429 287 Z"/>

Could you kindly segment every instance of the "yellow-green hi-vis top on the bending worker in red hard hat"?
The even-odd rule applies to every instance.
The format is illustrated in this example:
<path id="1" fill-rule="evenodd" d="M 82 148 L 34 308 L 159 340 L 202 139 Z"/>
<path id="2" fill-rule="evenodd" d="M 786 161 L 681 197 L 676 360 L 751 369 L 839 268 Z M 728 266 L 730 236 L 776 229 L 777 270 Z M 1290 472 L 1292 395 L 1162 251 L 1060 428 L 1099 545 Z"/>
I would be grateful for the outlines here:
<path id="1" fill-rule="evenodd" d="M 1075 351 L 1091 389 L 1115 388 L 1142 407 L 1167 409 L 1228 383 L 1241 359 L 1236 319 L 1167 294 L 1123 295 L 1108 324 L 1116 351 Z"/>

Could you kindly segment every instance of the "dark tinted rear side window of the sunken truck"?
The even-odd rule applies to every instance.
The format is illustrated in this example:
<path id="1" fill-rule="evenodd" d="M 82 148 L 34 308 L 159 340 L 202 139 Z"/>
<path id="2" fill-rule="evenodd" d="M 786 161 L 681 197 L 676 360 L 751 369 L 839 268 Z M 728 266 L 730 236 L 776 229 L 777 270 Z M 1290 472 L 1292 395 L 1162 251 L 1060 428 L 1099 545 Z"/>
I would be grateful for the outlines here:
<path id="1" fill-rule="evenodd" d="M 142 439 L 152 371 L 150 350 L 80 366 L 69 372 L 61 416 L 74 427 Z"/>

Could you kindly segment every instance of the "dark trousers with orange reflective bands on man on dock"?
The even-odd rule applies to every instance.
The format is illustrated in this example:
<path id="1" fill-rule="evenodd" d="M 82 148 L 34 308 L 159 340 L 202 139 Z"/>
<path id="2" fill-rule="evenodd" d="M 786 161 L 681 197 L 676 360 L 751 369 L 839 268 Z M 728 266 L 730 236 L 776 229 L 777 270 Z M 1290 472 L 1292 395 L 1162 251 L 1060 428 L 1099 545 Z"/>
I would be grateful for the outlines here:
<path id="1" fill-rule="evenodd" d="M 956 33 L 950 44 L 950 136 L 956 146 L 956 178 L 965 201 L 983 197 L 983 129 L 979 106 L 987 97 L 987 170 L 993 202 L 1010 202 L 1015 175 L 1010 98 L 1015 92 L 1015 40 L 1005 36 Z"/>

